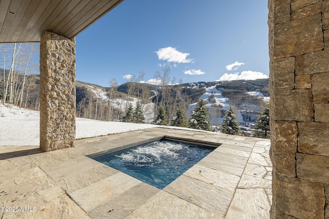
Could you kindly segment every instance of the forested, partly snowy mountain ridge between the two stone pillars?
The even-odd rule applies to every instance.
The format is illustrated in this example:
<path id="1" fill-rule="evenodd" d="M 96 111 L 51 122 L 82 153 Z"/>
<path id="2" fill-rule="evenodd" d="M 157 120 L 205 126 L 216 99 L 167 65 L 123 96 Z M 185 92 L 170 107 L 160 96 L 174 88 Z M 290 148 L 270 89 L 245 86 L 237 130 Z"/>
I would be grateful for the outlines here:
<path id="1" fill-rule="evenodd" d="M 138 99 L 142 105 L 150 103 L 163 105 L 166 108 L 167 120 L 170 122 L 174 111 L 178 107 L 188 114 L 189 105 L 196 103 L 198 99 L 206 93 L 206 88 L 215 86 L 217 91 L 214 92 L 222 92 L 224 97 L 229 98 L 229 104 L 236 110 L 239 110 L 242 116 L 239 122 L 242 124 L 254 123 L 257 115 L 262 111 L 262 107 L 265 106 L 262 96 L 269 96 L 268 83 L 268 78 L 253 81 L 195 82 L 180 85 L 166 85 L 163 89 L 160 85 L 127 82 L 111 90 L 111 88 L 102 88 L 97 85 L 79 82 L 77 83 L 77 115 L 94 118 L 95 110 L 94 112 L 90 111 L 92 108 L 96 107 L 96 98 L 90 98 L 90 96 L 93 95 L 95 97 L 96 91 L 90 91 L 90 87 L 94 87 L 106 92 L 108 98 L 111 96 L 112 105 L 116 105 L 113 109 L 107 109 L 108 111 L 113 111 L 111 113 L 116 115 L 110 118 L 111 121 L 120 121 L 128 106 L 126 103 L 119 104 L 121 98 L 130 99 L 131 103 L 134 102 L 134 99 L 135 101 Z M 112 93 L 112 95 L 109 95 L 109 93 Z M 211 99 L 211 97 L 212 96 L 209 95 L 207 99 L 211 103 L 211 106 L 208 105 L 209 110 L 220 110 L 218 114 L 222 117 L 225 113 L 225 109 L 223 109 L 219 103 L 216 103 L 214 99 Z M 108 100 L 99 100 L 97 104 L 100 106 L 102 102 L 104 102 L 104 104 L 107 105 L 105 103 L 106 101 Z M 213 107 L 214 109 L 212 109 Z M 145 112 L 144 114 L 148 113 Z M 153 115 L 150 115 L 150 120 L 152 120 L 152 116 L 154 117 L 155 111 L 153 110 L 152 113 Z M 98 118 L 98 116 L 96 117 Z M 102 118 L 101 120 L 106 119 Z"/>

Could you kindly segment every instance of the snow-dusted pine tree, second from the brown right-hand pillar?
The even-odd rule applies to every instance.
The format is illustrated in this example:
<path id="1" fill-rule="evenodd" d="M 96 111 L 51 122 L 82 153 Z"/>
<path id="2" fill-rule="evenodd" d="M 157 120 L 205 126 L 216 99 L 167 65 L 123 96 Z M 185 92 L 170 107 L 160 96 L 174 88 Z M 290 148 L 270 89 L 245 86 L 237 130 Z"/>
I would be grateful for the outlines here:
<path id="1" fill-rule="evenodd" d="M 239 122 L 236 121 L 236 116 L 232 107 L 226 110 L 224 120 L 222 122 L 221 132 L 224 134 L 239 134 Z"/>

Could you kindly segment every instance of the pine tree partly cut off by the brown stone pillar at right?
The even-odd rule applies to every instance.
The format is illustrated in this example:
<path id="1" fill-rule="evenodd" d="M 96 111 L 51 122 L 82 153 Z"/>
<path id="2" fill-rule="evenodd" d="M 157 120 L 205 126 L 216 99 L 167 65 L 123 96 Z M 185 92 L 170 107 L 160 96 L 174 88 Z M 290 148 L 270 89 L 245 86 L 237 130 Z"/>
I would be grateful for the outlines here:
<path id="1" fill-rule="evenodd" d="M 268 138 L 270 136 L 269 129 L 269 105 L 263 108 L 261 114 L 257 116 L 254 127 L 254 137 Z"/>

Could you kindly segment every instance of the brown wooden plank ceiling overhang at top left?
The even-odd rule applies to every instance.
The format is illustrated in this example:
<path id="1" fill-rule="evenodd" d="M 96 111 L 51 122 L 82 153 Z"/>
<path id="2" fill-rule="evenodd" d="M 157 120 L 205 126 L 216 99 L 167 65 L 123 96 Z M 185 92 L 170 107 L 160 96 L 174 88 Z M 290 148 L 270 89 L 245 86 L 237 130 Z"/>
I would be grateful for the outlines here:
<path id="1" fill-rule="evenodd" d="M 40 42 L 51 31 L 72 38 L 123 0 L 0 0 L 0 43 Z"/>

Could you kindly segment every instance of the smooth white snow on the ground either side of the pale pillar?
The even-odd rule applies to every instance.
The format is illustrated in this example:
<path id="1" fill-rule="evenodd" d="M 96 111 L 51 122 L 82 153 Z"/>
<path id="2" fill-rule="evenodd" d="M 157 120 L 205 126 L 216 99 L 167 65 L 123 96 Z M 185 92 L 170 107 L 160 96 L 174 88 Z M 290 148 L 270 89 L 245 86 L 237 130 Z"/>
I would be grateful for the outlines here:
<path id="1" fill-rule="evenodd" d="M 39 145 L 40 112 L 0 102 L 0 146 Z M 76 118 L 76 138 L 158 127 L 150 124 L 103 122 Z"/>

